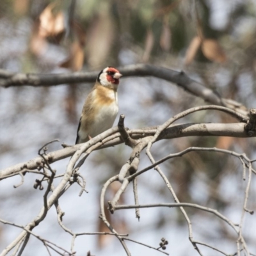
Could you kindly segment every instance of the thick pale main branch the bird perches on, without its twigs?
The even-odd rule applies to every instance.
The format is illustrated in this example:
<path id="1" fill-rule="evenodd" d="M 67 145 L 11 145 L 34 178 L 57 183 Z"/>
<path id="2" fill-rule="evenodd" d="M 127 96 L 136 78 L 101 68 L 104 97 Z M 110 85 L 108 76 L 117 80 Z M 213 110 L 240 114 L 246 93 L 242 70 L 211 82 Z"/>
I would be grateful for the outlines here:
<path id="1" fill-rule="evenodd" d="M 161 132 L 159 136 L 159 140 L 164 139 L 172 139 L 172 138 L 180 138 L 186 136 L 230 136 L 236 138 L 250 138 L 247 132 L 244 130 L 244 123 L 234 123 L 234 124 L 179 124 L 173 125 L 165 129 Z M 134 139 L 143 138 L 145 136 L 153 136 L 156 132 L 157 127 L 153 128 L 145 128 L 145 129 L 134 129 L 129 130 L 129 134 Z M 109 129 L 109 131 L 118 131 L 117 127 L 113 127 Z M 99 135 L 100 138 L 104 138 L 104 133 Z M 105 136 L 106 137 L 106 136 Z M 96 137 L 95 137 L 96 138 Z M 86 142 L 90 143 L 90 141 Z M 116 135 L 116 138 L 108 143 L 104 144 L 100 148 L 113 147 L 113 145 L 118 145 L 123 143 L 120 138 L 120 134 Z M 47 154 L 48 163 L 54 163 L 61 159 L 65 159 L 67 157 L 72 156 L 77 149 L 81 147 L 81 145 L 74 145 L 72 147 L 66 147 L 61 150 L 57 150 L 54 152 L 49 152 Z M 14 166 L 10 166 L 0 171 L 0 180 L 10 177 L 12 175 L 18 175 L 20 172 L 26 172 L 26 170 L 34 170 L 41 163 L 42 157 L 35 157 L 27 162 L 15 164 Z"/>

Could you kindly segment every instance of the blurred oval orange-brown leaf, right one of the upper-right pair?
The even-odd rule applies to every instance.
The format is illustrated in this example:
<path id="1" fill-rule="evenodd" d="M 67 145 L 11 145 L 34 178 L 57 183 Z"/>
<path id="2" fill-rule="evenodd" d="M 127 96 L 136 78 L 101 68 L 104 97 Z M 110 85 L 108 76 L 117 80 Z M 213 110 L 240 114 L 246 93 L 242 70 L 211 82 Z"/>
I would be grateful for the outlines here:
<path id="1" fill-rule="evenodd" d="M 225 52 L 214 39 L 204 39 L 202 41 L 202 52 L 204 56 L 211 61 L 223 63 L 227 60 Z"/>

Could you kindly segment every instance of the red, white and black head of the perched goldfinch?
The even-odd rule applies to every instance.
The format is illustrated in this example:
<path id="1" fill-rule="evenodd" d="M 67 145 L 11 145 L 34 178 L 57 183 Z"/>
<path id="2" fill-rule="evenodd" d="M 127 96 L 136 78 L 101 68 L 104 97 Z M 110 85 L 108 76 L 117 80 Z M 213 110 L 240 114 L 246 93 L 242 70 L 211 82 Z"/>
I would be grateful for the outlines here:
<path id="1" fill-rule="evenodd" d="M 122 74 L 116 68 L 106 67 L 100 71 L 97 82 L 102 86 L 117 88 L 121 76 Z"/>

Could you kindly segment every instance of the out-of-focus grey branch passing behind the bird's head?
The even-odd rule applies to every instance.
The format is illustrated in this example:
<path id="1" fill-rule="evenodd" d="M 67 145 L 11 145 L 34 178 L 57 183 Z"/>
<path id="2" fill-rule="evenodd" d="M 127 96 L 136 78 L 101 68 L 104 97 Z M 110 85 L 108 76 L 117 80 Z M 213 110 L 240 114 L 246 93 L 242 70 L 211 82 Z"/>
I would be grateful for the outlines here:
<path id="1" fill-rule="evenodd" d="M 189 76 L 183 71 L 175 71 L 170 68 L 156 67 L 147 64 L 127 65 L 118 68 L 124 77 L 157 77 L 164 79 L 171 83 L 175 83 L 189 93 L 204 99 L 205 101 L 228 108 L 236 109 L 243 115 L 248 115 L 248 110 L 239 102 L 234 100 L 227 100 L 221 98 L 213 90 L 205 87 Z M 55 86 L 58 84 L 72 84 L 72 83 L 93 83 L 99 72 L 74 72 L 66 74 L 22 74 L 0 70 L 0 86 Z"/>

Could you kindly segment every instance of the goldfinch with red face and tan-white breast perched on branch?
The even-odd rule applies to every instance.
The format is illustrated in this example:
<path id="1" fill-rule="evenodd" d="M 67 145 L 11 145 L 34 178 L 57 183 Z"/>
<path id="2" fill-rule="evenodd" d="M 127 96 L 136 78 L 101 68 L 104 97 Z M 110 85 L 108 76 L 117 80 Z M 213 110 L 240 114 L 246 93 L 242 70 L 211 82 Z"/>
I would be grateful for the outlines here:
<path id="1" fill-rule="evenodd" d="M 118 113 L 117 88 L 121 76 L 114 67 L 100 71 L 84 102 L 76 144 L 84 143 L 113 126 Z"/>

